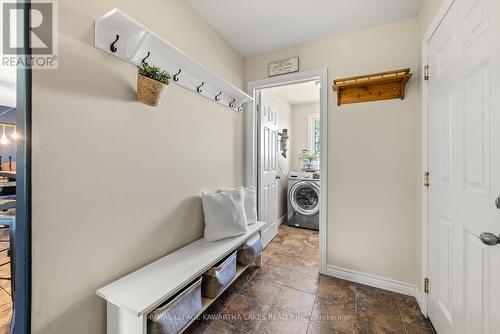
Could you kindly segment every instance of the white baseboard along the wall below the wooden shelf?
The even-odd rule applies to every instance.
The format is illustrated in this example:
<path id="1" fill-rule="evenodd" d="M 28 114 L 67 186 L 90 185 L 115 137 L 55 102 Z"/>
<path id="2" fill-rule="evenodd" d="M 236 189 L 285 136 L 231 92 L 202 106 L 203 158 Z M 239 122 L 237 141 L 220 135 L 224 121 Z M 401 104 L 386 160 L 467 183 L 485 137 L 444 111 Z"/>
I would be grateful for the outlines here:
<path id="1" fill-rule="evenodd" d="M 335 266 L 328 266 L 327 274 L 340 279 L 356 282 L 375 288 L 401 293 L 415 297 L 417 288 L 410 283 L 399 282 L 393 279 L 376 276 L 372 274 L 361 273 L 350 269 L 344 269 Z"/>

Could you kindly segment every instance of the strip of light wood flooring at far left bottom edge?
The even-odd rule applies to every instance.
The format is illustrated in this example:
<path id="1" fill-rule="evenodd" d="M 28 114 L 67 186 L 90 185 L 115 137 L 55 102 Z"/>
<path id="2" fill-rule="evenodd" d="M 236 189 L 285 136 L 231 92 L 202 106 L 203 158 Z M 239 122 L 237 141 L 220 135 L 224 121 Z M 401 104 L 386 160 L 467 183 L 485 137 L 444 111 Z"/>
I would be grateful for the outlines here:
<path id="1" fill-rule="evenodd" d="M 0 240 L 8 240 L 8 236 L 7 233 L 0 232 Z M 7 247 L 7 242 L 0 242 L 0 250 Z M 1 252 L 0 263 L 4 263 L 7 260 L 7 254 Z M 0 277 L 10 277 L 9 265 L 0 267 Z M 0 334 L 7 334 L 9 332 L 10 318 L 12 316 L 12 299 L 10 294 L 10 281 L 0 280 Z"/>

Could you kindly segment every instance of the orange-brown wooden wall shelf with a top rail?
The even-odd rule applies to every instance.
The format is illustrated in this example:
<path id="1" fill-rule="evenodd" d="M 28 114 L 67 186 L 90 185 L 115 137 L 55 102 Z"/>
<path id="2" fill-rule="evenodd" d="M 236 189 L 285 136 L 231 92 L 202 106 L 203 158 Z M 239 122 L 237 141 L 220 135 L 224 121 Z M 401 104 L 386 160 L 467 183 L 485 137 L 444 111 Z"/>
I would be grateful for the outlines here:
<path id="1" fill-rule="evenodd" d="M 337 105 L 405 98 L 410 69 L 373 73 L 337 79 L 333 90 L 337 92 Z"/>

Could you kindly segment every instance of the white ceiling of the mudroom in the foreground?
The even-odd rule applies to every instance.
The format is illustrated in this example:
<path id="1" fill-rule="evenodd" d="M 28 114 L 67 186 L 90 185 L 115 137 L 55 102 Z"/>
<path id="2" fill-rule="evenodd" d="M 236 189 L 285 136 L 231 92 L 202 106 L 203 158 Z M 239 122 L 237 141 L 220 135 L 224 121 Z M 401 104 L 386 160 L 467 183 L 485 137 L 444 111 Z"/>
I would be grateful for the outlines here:
<path id="1" fill-rule="evenodd" d="M 422 0 L 189 0 L 243 56 L 414 17 Z"/>

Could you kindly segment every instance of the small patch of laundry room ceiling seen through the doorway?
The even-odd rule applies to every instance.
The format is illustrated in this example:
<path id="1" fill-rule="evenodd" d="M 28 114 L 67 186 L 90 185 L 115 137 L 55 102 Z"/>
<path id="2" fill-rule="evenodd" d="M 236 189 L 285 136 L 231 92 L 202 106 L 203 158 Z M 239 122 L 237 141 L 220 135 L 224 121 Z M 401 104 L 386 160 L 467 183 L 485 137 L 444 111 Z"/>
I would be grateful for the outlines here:
<path id="1" fill-rule="evenodd" d="M 266 88 L 264 93 L 280 97 L 288 101 L 291 105 L 319 102 L 319 86 L 314 81 Z"/>

